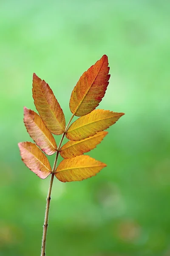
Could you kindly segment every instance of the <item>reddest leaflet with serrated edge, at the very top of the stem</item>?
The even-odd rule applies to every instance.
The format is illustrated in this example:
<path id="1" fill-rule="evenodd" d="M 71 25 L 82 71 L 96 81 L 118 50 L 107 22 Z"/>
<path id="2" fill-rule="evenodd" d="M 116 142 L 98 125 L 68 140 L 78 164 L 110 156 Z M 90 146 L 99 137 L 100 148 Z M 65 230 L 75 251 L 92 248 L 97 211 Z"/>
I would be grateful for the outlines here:
<path id="1" fill-rule="evenodd" d="M 101 102 L 110 78 L 108 56 L 102 58 L 82 74 L 71 93 L 70 110 L 75 116 L 85 116 Z"/>

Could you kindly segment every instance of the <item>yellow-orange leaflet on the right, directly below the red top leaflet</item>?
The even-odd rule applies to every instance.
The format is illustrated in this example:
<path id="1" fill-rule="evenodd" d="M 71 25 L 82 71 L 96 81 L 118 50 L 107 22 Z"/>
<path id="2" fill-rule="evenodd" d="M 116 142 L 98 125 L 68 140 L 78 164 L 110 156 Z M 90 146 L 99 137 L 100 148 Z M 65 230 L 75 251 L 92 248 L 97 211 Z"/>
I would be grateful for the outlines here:
<path id="1" fill-rule="evenodd" d="M 82 140 L 93 136 L 98 131 L 103 131 L 113 125 L 124 113 L 109 110 L 95 109 L 86 116 L 77 119 L 68 128 L 66 137 L 69 140 Z"/>

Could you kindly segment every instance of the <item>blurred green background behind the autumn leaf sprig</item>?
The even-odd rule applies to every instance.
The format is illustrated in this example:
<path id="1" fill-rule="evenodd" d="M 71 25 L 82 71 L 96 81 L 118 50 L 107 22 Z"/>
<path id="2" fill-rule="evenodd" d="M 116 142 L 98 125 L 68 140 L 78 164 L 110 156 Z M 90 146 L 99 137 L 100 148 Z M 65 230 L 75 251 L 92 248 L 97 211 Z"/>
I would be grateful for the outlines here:
<path id="1" fill-rule="evenodd" d="M 81 182 L 55 179 L 46 255 L 170 255 L 170 1 L 6 0 L 0 2 L 0 256 L 40 255 L 50 177 L 29 171 L 17 146 L 32 141 L 23 106 L 35 111 L 33 72 L 51 86 L 68 122 L 73 87 L 103 54 L 111 79 L 99 108 L 125 116 L 90 152 L 107 168 Z"/>

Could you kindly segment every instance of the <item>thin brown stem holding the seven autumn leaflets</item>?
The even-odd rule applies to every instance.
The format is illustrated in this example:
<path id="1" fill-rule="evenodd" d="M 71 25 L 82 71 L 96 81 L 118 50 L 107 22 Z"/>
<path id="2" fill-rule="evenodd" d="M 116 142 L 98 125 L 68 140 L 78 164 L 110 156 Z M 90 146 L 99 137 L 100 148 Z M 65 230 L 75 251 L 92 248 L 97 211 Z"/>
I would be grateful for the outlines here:
<path id="1" fill-rule="evenodd" d="M 45 243 L 46 243 L 46 236 L 47 236 L 47 227 L 48 227 L 48 214 L 49 214 L 49 209 L 50 209 L 50 200 L 51 200 L 51 190 L 52 190 L 52 186 L 53 186 L 53 180 L 54 180 L 54 173 L 56 170 L 56 166 L 57 166 L 57 160 L 58 160 L 58 156 L 59 156 L 59 150 L 61 148 L 62 145 L 62 141 L 65 137 L 65 134 L 67 132 L 68 126 L 71 123 L 71 120 L 73 119 L 74 114 L 71 116 L 70 121 L 68 122 L 68 125 L 65 128 L 64 133 L 62 134 L 62 138 L 60 140 L 59 146 L 57 148 L 57 154 L 54 160 L 54 166 L 52 169 L 52 174 L 51 174 L 51 180 L 50 180 L 50 185 L 49 185 L 49 189 L 48 189 L 48 196 L 47 196 L 47 204 L 46 204 L 46 210 L 45 210 L 45 220 L 44 220 L 44 226 L 43 226 L 43 236 L 42 236 L 42 248 L 41 248 L 41 256 L 45 256 Z"/>

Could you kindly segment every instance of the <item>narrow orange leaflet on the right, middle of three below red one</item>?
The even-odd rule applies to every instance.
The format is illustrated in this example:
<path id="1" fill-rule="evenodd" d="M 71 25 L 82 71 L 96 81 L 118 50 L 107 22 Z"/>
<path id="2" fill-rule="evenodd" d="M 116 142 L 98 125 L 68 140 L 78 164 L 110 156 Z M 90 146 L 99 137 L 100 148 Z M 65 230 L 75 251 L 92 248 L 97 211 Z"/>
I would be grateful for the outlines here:
<path id="1" fill-rule="evenodd" d="M 92 137 L 79 141 L 68 141 L 62 146 L 59 153 L 63 158 L 72 158 L 96 148 L 103 138 L 108 134 L 107 131 L 100 131 Z"/>

